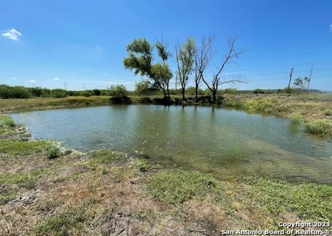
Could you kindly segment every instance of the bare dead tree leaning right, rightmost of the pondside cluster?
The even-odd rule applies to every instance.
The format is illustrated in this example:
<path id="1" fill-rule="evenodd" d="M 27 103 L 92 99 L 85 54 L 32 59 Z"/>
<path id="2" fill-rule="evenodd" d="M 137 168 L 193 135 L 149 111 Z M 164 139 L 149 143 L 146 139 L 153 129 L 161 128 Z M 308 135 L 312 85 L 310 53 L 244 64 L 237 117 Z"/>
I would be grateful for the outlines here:
<path id="1" fill-rule="evenodd" d="M 237 42 L 238 37 L 234 37 L 232 39 L 228 40 L 228 51 L 225 54 L 225 59 L 223 59 L 223 62 L 221 63 L 221 66 L 219 67 L 216 74 L 213 75 L 213 79 L 211 83 L 208 83 L 207 79 L 202 76 L 202 80 L 205 83 L 205 85 L 208 87 L 208 89 L 212 92 L 212 100 L 213 102 L 216 102 L 216 92 L 218 91 L 219 86 L 224 83 L 245 83 L 245 81 L 241 79 L 230 79 L 230 80 L 221 80 L 221 72 L 225 69 L 225 67 L 229 63 L 236 63 L 237 59 L 245 52 L 245 50 L 236 50 L 234 48 L 234 44 Z"/>

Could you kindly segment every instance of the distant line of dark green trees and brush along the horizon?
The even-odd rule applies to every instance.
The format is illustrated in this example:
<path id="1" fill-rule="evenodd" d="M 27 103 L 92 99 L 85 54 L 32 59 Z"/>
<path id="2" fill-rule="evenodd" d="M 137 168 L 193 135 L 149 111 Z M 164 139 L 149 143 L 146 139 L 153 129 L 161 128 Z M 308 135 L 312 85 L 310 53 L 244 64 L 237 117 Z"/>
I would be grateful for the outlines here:
<path id="1" fill-rule="evenodd" d="M 277 89 L 277 90 L 263 90 L 263 89 L 255 89 L 255 90 L 237 90 L 235 88 L 226 88 L 224 90 L 218 90 L 219 95 L 223 94 L 243 94 L 243 93 L 254 93 L 254 94 L 270 94 L 270 93 L 286 93 L 286 92 L 295 92 L 295 90 L 287 90 L 285 89 Z M 311 92 L 320 92 L 318 90 L 311 90 Z M 169 89 L 170 95 L 181 95 L 181 89 Z M 186 90 L 187 95 L 195 95 L 195 88 L 188 87 Z M 211 95 L 211 91 L 208 89 L 198 90 L 199 95 Z M 69 96 L 116 96 L 122 97 L 127 95 L 136 95 L 136 96 L 162 96 L 163 92 L 151 88 L 146 81 L 140 81 L 136 83 L 135 90 L 130 91 L 127 90 L 123 85 L 111 86 L 108 89 L 93 89 L 93 90 L 64 90 L 61 88 L 48 89 L 48 88 L 27 88 L 24 86 L 7 86 L 0 85 L 0 98 L 2 99 L 26 99 L 32 97 L 69 97 Z"/>

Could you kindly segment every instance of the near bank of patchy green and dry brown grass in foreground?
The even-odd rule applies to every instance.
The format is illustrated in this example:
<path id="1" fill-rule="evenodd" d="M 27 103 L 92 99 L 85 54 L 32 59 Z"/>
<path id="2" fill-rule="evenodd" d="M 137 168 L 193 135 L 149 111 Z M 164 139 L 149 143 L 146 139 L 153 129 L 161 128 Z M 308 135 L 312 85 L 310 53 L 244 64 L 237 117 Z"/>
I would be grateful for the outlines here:
<path id="1" fill-rule="evenodd" d="M 111 150 L 79 153 L 23 141 L 24 128 L 1 115 L 0 130 L 0 235 L 219 235 L 332 221 L 331 185 L 216 180 Z"/>

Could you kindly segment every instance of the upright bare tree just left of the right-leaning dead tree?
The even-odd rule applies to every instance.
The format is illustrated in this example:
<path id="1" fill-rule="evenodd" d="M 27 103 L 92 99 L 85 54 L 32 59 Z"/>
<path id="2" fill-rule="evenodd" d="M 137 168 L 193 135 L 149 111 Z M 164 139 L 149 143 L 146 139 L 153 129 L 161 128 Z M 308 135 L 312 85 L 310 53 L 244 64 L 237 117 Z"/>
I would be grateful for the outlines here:
<path id="1" fill-rule="evenodd" d="M 195 100 L 198 101 L 199 86 L 201 85 L 205 69 L 212 58 L 211 44 L 214 37 L 209 35 L 208 39 L 203 38 L 200 48 L 195 52 Z"/>

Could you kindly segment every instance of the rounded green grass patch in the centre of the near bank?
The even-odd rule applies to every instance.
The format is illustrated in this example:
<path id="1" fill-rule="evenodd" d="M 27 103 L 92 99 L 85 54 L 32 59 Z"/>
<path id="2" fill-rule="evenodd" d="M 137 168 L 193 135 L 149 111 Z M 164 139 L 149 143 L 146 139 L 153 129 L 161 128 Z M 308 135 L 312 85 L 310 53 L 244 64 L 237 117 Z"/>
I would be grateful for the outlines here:
<path id="1" fill-rule="evenodd" d="M 192 197 L 204 197 L 214 187 L 214 180 L 199 172 L 163 170 L 151 178 L 147 191 L 165 204 L 180 204 Z"/>

